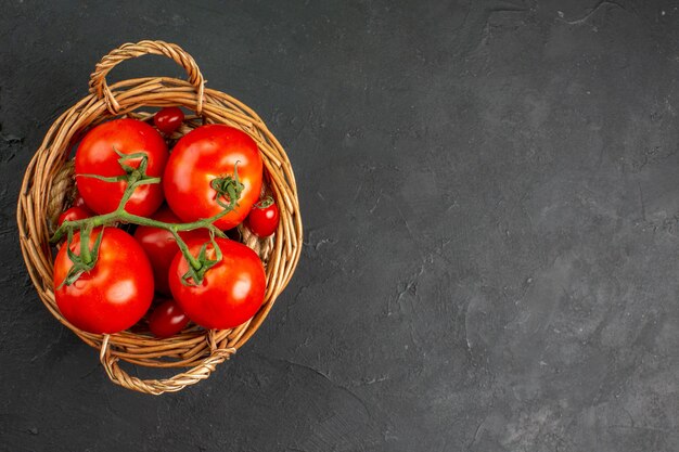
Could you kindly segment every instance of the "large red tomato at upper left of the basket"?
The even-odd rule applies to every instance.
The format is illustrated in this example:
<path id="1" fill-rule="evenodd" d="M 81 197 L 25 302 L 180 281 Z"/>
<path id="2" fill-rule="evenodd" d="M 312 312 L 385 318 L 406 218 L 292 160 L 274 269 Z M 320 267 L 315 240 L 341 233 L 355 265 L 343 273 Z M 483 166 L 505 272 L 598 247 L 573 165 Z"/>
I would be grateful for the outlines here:
<path id="1" fill-rule="evenodd" d="M 97 214 L 114 211 L 127 186 L 126 181 L 105 182 L 85 175 L 115 177 L 125 175 L 118 164 L 116 153 L 144 153 L 149 158 L 146 175 L 159 177 L 167 163 L 167 145 L 153 127 L 136 119 L 115 119 L 90 130 L 76 152 L 76 183 L 86 204 Z M 138 168 L 141 159 L 130 159 L 125 164 Z M 159 183 L 140 185 L 127 203 L 130 214 L 148 217 L 163 203 L 163 188 Z"/>

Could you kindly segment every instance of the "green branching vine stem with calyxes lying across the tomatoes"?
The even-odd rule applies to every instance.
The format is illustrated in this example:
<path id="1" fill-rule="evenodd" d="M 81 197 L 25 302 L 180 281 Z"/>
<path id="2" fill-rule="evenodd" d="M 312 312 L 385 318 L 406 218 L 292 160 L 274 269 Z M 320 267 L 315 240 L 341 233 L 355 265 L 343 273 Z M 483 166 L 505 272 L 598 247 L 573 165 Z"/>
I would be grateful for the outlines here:
<path id="1" fill-rule="evenodd" d="M 120 203 L 116 210 L 99 215 L 84 220 L 64 221 L 64 223 L 54 231 L 54 235 L 50 238 L 50 243 L 59 243 L 64 235 L 67 236 L 67 254 L 68 258 L 73 262 L 73 267 L 68 270 L 68 274 L 64 281 L 59 285 L 61 288 L 63 285 L 72 285 L 75 283 L 82 273 L 86 273 L 94 268 L 97 259 L 99 257 L 99 248 L 103 237 L 104 228 L 99 232 L 97 240 L 92 248 L 89 247 L 90 234 L 94 228 L 113 225 L 115 223 L 128 223 L 138 225 L 148 225 L 152 228 L 164 229 L 170 231 L 179 249 L 181 250 L 184 259 L 189 262 L 189 271 L 182 276 L 181 283 L 184 285 L 195 286 L 203 283 L 205 273 L 218 262 L 221 261 L 222 255 L 219 246 L 215 242 L 215 236 L 226 237 L 226 234 L 220 231 L 214 223 L 238 206 L 238 201 L 241 197 L 244 185 L 241 183 L 238 173 L 238 162 L 233 166 L 233 176 L 226 175 L 217 178 L 210 182 L 210 186 L 217 192 L 216 202 L 222 207 L 222 210 L 217 215 L 193 221 L 190 223 L 166 223 L 163 221 L 153 220 L 151 218 L 140 217 L 129 214 L 125 210 L 125 206 L 137 190 L 138 186 L 151 183 L 159 183 L 161 178 L 150 177 L 146 175 L 149 166 L 149 156 L 145 153 L 139 152 L 133 154 L 123 154 L 114 147 L 114 151 L 120 158 L 118 164 L 125 171 L 125 175 L 116 177 L 102 177 L 99 175 L 77 175 L 78 177 L 88 177 L 102 180 L 104 182 L 120 182 L 126 181 L 127 185 Z M 140 159 L 139 167 L 134 168 L 129 165 L 129 160 Z M 214 259 L 208 257 L 207 245 L 204 243 L 198 251 L 197 256 L 192 256 L 189 247 L 179 235 L 181 231 L 192 231 L 195 229 L 205 228 L 210 232 L 210 243 L 214 247 Z M 80 231 L 80 254 L 76 255 L 71 250 L 71 244 L 75 231 Z"/>

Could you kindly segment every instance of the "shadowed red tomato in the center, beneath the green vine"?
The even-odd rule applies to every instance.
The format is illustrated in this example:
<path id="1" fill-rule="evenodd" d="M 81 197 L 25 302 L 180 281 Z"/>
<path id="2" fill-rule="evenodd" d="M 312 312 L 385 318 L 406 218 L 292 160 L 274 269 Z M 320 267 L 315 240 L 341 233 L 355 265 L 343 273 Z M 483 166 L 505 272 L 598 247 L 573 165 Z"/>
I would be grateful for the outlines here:
<path id="1" fill-rule="evenodd" d="M 167 207 L 161 207 L 152 217 L 154 220 L 166 223 L 180 223 L 172 211 Z M 203 242 L 209 241 L 209 232 L 206 229 L 180 232 L 179 236 L 185 242 L 191 238 L 203 238 Z M 179 250 L 177 242 L 171 232 L 159 229 L 140 225 L 134 231 L 134 238 L 144 248 L 151 266 L 153 267 L 153 277 L 155 280 L 155 289 L 164 295 L 171 295 L 169 284 L 167 282 L 167 271 Z"/>

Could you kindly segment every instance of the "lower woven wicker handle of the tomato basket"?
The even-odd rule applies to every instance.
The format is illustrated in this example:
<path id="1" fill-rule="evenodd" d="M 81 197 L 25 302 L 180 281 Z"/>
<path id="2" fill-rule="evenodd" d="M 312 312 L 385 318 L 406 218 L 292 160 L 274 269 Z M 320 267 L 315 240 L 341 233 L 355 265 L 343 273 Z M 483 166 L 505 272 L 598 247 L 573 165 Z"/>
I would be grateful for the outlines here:
<path id="1" fill-rule="evenodd" d="M 111 354 L 110 335 L 104 335 L 104 340 L 101 345 L 99 352 L 99 360 L 104 366 L 108 378 L 116 385 L 124 388 L 131 389 L 138 392 L 152 393 L 159 396 L 164 392 L 177 392 L 187 386 L 195 385 L 196 383 L 206 379 L 215 371 L 217 365 L 228 360 L 231 354 L 235 353 L 235 348 L 217 348 L 214 339 L 214 331 L 208 333 L 208 343 L 210 346 L 210 356 L 205 358 L 201 364 L 191 369 L 190 371 L 182 372 L 170 378 L 164 379 L 141 379 L 133 377 L 125 372 L 118 365 L 118 358 Z"/>

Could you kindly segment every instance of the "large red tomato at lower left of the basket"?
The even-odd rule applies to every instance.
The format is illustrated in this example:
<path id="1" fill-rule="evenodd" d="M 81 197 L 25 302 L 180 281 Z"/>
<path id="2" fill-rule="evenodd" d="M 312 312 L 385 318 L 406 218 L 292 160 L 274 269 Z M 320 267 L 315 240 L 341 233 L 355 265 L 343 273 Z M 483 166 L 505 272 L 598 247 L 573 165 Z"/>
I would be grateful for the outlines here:
<path id="1" fill-rule="evenodd" d="M 99 235 L 90 235 L 90 248 Z M 116 228 L 103 233 L 94 268 L 71 284 L 63 284 L 73 267 L 62 246 L 54 261 L 54 298 L 62 314 L 75 326 L 90 333 L 117 333 L 137 323 L 153 300 L 153 271 L 141 246 L 131 235 Z M 80 254 L 80 233 L 71 250 Z"/>

